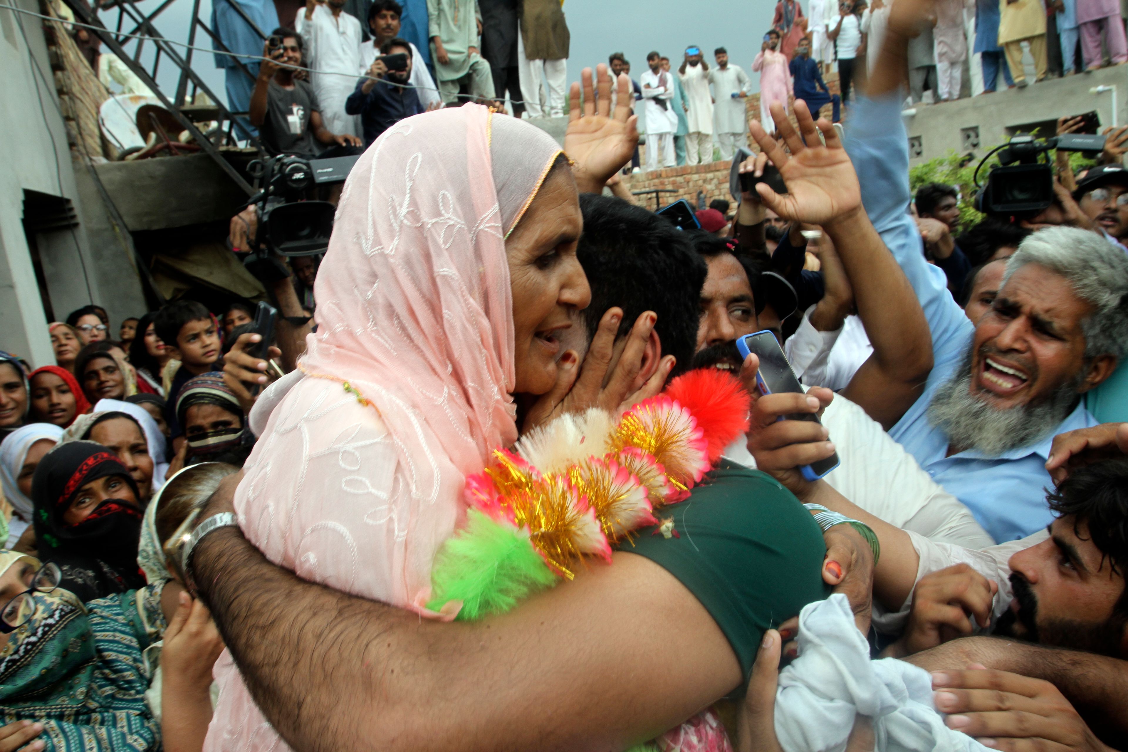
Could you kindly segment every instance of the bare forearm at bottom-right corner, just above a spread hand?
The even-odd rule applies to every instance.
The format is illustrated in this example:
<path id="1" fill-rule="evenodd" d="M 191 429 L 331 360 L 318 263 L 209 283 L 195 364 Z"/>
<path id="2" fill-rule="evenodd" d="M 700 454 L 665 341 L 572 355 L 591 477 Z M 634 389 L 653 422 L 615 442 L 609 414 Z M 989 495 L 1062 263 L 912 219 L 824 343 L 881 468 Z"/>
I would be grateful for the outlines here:
<path id="1" fill-rule="evenodd" d="M 906 660 L 932 672 L 981 663 L 988 669 L 1042 679 L 1065 695 L 1105 744 L 1125 749 L 1128 741 L 1126 661 L 1001 637 L 953 639 Z"/>

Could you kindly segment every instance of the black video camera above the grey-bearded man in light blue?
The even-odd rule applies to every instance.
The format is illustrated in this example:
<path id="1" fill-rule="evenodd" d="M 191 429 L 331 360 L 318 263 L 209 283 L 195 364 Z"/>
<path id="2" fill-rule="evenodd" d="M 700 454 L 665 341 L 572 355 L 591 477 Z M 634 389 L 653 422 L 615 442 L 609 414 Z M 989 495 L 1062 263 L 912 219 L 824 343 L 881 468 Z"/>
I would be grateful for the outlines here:
<path id="1" fill-rule="evenodd" d="M 1051 150 L 1101 151 L 1104 136 L 1085 133 L 1066 133 L 1051 139 L 1036 139 L 1020 133 L 1002 147 L 987 152 L 975 171 L 976 209 L 985 214 L 1034 216 L 1054 203 L 1054 170 L 1049 163 Z M 987 160 L 998 154 L 999 167 L 987 176 L 987 185 L 979 185 L 979 170 Z M 1043 159 L 1039 161 L 1039 157 Z"/>

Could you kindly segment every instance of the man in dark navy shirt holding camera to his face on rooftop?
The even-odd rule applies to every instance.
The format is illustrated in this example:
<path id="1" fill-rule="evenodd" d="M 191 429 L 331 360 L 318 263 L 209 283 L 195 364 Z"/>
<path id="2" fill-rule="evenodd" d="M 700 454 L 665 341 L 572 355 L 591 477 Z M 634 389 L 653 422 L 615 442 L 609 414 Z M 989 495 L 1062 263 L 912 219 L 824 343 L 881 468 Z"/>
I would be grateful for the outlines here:
<path id="1" fill-rule="evenodd" d="M 368 74 L 356 82 L 356 89 L 345 100 L 345 112 L 360 115 L 365 148 L 399 121 L 423 112 L 415 89 L 407 86 L 413 63 L 409 42 L 398 37 L 388 39 Z"/>

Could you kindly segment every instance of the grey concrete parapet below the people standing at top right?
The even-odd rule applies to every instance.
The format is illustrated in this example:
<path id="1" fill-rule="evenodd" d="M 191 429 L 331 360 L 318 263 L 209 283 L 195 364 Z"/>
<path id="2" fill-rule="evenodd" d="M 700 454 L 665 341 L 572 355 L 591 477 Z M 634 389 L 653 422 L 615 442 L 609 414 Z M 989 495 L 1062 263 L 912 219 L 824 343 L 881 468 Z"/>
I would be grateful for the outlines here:
<path id="1" fill-rule="evenodd" d="M 1113 113 L 1112 91 L 1092 92 L 1098 86 L 1116 87 Z M 1001 90 L 942 105 L 917 105 L 906 115 L 905 126 L 910 144 L 919 140 L 919 153 L 910 163 L 917 165 L 949 151 L 972 152 L 981 157 L 992 147 L 1004 143 L 1016 126 L 1056 121 L 1063 115 L 1079 115 L 1095 109 L 1101 125 L 1128 124 L 1128 71 L 1112 67 L 1034 83 L 1025 89 Z M 966 136 L 978 133 L 978 144 Z"/>

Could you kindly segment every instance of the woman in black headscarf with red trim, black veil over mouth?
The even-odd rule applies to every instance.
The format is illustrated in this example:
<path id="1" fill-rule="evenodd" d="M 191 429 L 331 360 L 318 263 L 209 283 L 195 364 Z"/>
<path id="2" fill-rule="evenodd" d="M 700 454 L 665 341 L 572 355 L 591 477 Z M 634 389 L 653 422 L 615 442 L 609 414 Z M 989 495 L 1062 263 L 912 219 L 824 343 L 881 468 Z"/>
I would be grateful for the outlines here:
<path id="1" fill-rule="evenodd" d="M 32 479 L 36 548 L 82 602 L 144 587 L 140 499 L 130 471 L 102 444 L 62 443 L 39 461 Z"/>

